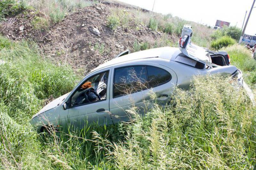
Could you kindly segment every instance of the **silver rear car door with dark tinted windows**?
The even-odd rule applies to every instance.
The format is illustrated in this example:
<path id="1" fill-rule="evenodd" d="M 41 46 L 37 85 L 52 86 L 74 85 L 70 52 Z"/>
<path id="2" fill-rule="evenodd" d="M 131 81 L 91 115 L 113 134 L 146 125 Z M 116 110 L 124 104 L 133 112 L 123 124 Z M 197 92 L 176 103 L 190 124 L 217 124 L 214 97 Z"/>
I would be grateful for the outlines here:
<path id="1" fill-rule="evenodd" d="M 155 100 L 163 105 L 168 101 L 169 96 L 173 91 L 173 87 L 175 87 L 177 83 L 176 74 L 170 68 L 161 66 L 164 67 L 164 71 L 170 74 L 170 79 L 161 84 L 157 84 L 155 81 L 154 84 L 154 82 L 151 83 L 149 81 L 148 77 L 148 73 L 156 71 L 152 70 L 152 67 L 159 68 L 159 65 L 134 65 L 113 68 L 113 78 L 111 79 L 112 87 L 110 87 L 112 92 L 110 92 L 109 109 L 114 123 L 130 120 L 132 115 L 127 112 L 127 110 L 132 107 L 136 107 L 137 112 L 143 114 L 152 107 Z M 129 73 L 131 70 L 133 73 Z M 119 79 L 123 80 L 125 83 Z M 140 82 L 139 86 L 132 89 L 129 87 L 129 83 L 132 84 L 131 81 L 134 79 L 137 79 L 137 81 Z M 125 87 L 127 85 L 128 90 L 126 90 L 127 87 Z M 124 93 L 124 91 L 126 93 Z M 156 93 L 155 99 L 152 98 L 153 93 Z"/>

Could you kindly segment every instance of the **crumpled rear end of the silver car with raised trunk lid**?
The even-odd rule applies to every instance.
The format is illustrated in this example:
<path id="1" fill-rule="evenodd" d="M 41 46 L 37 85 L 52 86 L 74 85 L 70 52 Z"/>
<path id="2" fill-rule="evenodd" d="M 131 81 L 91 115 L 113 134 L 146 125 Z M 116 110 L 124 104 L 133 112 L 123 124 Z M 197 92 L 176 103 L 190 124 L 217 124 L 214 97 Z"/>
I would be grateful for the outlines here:
<path id="1" fill-rule="evenodd" d="M 192 27 L 184 25 L 179 48 L 182 55 L 177 56 L 175 61 L 182 61 L 183 64 L 191 65 L 202 69 L 203 74 L 231 75 L 237 84 L 244 88 L 250 97 L 252 104 L 255 105 L 255 98 L 252 90 L 243 80 L 243 73 L 236 66 L 230 65 L 230 58 L 226 51 L 211 51 L 207 48 L 197 46 L 191 42 Z M 183 58 L 183 59 L 180 59 Z M 186 58 L 186 59 L 185 59 Z M 184 63 L 186 62 L 186 63 Z"/>

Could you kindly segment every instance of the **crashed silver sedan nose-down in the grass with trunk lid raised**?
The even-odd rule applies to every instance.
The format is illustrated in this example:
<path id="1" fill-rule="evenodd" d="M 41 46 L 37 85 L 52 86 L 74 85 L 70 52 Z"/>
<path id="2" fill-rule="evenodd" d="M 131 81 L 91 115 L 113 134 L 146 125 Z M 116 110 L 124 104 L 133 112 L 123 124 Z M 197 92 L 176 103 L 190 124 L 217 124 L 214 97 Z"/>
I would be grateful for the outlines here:
<path id="1" fill-rule="evenodd" d="M 31 124 L 42 131 L 67 123 L 82 128 L 86 123 L 128 121 L 131 117 L 126 110 L 132 106 L 144 114 L 155 100 L 165 105 L 176 86 L 188 89 L 194 75 L 199 74 L 228 74 L 244 86 L 242 72 L 230 65 L 226 52 L 196 46 L 191 36 L 191 26 L 185 25 L 179 48 L 120 53 L 93 69 L 71 92 L 47 104 L 32 117 Z M 156 94 L 154 101 L 152 92 Z"/>

